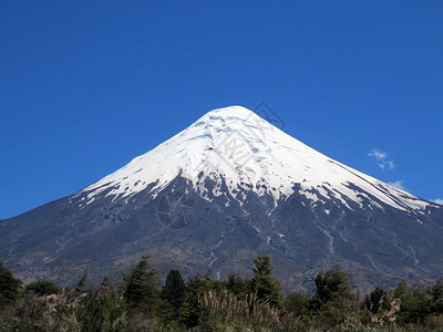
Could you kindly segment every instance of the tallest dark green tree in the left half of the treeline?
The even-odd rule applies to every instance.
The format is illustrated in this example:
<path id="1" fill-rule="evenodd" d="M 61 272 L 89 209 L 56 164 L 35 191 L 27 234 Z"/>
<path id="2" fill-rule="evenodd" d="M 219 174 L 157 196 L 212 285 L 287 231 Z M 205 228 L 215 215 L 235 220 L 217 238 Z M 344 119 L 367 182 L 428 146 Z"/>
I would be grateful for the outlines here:
<path id="1" fill-rule="evenodd" d="M 131 309 L 155 311 L 159 300 L 159 278 L 157 270 L 148 262 L 150 256 L 123 274 L 123 290 Z"/>

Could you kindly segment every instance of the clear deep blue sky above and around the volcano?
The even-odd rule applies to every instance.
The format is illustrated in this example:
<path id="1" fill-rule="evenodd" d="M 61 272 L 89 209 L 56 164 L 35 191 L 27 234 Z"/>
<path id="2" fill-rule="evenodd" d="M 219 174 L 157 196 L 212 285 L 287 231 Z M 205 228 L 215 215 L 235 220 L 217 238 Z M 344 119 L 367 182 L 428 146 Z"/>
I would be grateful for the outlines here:
<path id="1" fill-rule="evenodd" d="M 317 151 L 443 199 L 442 17 L 443 1 L 1 1 L 0 218 L 261 101 Z"/>

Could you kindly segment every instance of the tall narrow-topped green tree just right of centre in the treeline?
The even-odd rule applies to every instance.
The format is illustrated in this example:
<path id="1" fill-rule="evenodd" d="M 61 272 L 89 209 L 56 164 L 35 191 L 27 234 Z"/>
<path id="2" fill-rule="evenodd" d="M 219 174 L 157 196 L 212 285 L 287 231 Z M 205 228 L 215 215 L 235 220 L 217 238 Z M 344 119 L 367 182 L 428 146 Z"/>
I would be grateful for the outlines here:
<path id="1" fill-rule="evenodd" d="M 270 277 L 274 270 L 270 257 L 258 256 L 253 261 L 256 267 L 253 269 L 254 277 L 249 280 L 249 291 L 257 294 L 258 301 L 278 305 L 281 300 L 281 286 L 277 279 Z"/>

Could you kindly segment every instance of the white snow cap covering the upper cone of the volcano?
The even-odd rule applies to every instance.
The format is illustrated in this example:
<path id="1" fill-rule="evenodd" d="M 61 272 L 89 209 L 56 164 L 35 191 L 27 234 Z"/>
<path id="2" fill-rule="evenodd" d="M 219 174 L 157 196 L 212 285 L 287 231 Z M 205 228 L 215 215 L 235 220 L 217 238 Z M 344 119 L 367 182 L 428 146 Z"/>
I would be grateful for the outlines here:
<path id="1" fill-rule="evenodd" d="M 230 106 L 214 110 L 179 134 L 97 183 L 84 188 L 89 201 L 104 190 L 115 199 L 147 187 L 155 197 L 177 176 L 189 179 L 207 197 L 204 180 L 271 195 L 276 204 L 295 193 L 312 201 L 332 197 L 361 204 L 363 198 L 402 210 L 423 210 L 430 203 L 342 165 L 285 134 L 254 112 Z M 239 198 L 241 201 L 241 198 Z M 374 203 L 377 205 L 377 203 Z"/>

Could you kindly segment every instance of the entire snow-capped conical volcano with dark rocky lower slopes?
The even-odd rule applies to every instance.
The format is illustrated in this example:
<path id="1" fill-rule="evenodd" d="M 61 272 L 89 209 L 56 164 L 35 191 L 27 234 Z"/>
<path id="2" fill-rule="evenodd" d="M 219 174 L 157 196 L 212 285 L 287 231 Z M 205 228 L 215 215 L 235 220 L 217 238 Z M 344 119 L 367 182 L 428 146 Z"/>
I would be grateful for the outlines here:
<path id="1" fill-rule="evenodd" d="M 217 278 L 274 257 L 287 289 L 341 264 L 362 287 L 434 280 L 443 210 L 302 144 L 254 112 L 210 111 L 79 193 L 0 222 L 25 280 L 113 274 L 152 255 Z"/>

